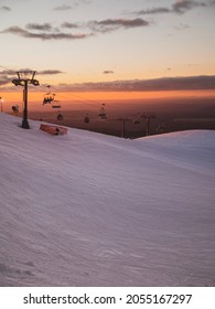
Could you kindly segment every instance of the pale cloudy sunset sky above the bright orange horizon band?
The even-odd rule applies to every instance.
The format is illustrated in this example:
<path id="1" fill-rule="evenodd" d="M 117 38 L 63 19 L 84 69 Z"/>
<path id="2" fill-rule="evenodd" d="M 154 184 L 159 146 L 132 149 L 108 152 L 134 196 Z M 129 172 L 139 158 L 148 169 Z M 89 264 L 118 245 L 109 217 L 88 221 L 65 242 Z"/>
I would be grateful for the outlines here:
<path id="1" fill-rule="evenodd" d="M 0 0 L 0 96 L 21 70 L 40 92 L 215 86 L 214 0 Z"/>

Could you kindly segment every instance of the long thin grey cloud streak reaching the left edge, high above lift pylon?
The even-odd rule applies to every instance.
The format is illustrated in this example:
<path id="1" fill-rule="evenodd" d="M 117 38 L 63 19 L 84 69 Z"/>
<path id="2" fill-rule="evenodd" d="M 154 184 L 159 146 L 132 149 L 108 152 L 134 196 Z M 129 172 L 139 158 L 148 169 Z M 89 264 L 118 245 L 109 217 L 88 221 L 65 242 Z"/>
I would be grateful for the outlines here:
<path id="1" fill-rule="evenodd" d="M 43 41 L 47 40 L 78 40 L 78 39 L 86 39 L 88 36 L 92 36 L 93 34 L 85 34 L 85 33 L 64 33 L 64 32 L 52 32 L 52 33 L 35 33 L 35 32 L 30 32 L 28 30 L 24 30 L 20 26 L 10 26 L 6 30 L 3 30 L 1 33 L 11 33 L 15 34 L 22 38 L 30 38 L 30 39 L 41 39 Z"/>

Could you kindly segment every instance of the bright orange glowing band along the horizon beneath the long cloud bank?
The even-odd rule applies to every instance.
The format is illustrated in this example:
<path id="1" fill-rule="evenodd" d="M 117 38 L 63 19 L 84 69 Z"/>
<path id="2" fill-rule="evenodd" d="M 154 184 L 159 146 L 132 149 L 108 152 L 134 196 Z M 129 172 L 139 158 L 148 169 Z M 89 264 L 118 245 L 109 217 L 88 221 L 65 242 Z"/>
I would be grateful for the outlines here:
<path id="1" fill-rule="evenodd" d="M 6 111 L 11 109 L 12 105 L 18 104 L 21 106 L 23 104 L 23 93 L 20 92 L 4 92 L 1 94 L 3 98 L 3 109 Z M 55 94 L 55 98 L 61 102 L 62 108 L 72 108 L 72 106 L 98 105 L 106 104 L 123 104 L 130 103 L 132 100 L 161 100 L 163 99 L 179 99 L 179 98 L 206 98 L 215 97 L 214 90 L 165 90 L 165 92 L 60 92 Z M 47 110 L 49 106 L 43 106 L 43 92 L 29 92 L 29 107 L 34 110 Z"/>

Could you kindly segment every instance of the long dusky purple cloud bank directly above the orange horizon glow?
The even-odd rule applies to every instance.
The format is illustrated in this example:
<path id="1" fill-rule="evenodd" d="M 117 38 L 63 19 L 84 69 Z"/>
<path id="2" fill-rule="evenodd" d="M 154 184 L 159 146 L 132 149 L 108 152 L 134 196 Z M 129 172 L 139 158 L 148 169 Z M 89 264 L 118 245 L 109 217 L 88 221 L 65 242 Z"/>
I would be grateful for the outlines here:
<path id="1" fill-rule="evenodd" d="M 155 79 L 131 79 L 101 83 L 84 83 L 62 85 L 64 92 L 96 90 L 96 92 L 160 92 L 160 90 L 198 90 L 214 89 L 215 75 L 164 77 Z"/>

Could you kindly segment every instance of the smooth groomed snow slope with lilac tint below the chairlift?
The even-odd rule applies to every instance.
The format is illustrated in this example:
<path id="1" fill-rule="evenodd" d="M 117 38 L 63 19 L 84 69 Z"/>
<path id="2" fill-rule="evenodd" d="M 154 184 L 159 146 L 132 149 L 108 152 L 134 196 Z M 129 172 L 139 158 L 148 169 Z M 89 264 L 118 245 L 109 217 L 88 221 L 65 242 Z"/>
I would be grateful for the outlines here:
<path id="1" fill-rule="evenodd" d="M 0 286 L 215 286 L 215 131 L 20 124 L 0 115 Z"/>

